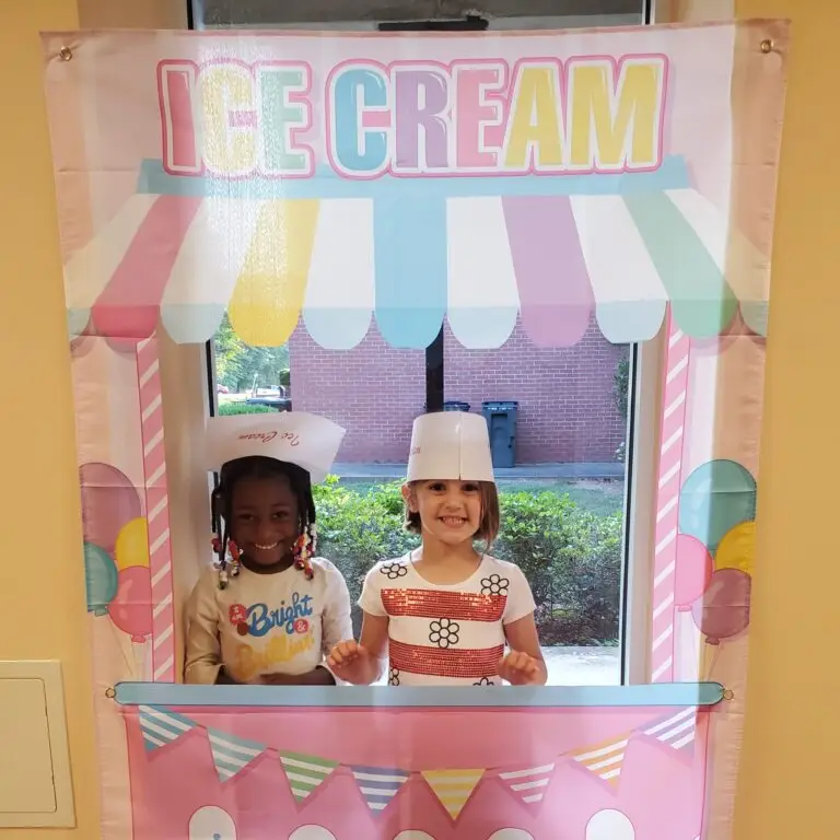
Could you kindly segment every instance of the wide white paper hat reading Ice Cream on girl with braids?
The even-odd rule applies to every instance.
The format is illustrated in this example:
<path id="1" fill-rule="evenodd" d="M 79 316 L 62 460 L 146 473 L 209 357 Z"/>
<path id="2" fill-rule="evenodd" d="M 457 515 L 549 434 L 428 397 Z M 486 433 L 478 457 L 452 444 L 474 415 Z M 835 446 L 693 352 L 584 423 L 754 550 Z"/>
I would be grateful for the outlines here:
<path id="1" fill-rule="evenodd" d="M 218 470 L 229 460 L 262 455 L 296 464 L 317 485 L 326 478 L 343 438 L 340 425 L 304 411 L 214 417 L 207 427 L 207 468 Z"/>

